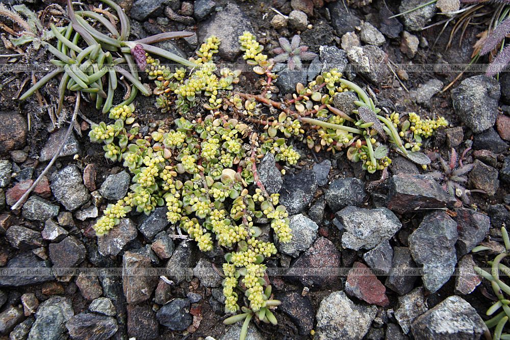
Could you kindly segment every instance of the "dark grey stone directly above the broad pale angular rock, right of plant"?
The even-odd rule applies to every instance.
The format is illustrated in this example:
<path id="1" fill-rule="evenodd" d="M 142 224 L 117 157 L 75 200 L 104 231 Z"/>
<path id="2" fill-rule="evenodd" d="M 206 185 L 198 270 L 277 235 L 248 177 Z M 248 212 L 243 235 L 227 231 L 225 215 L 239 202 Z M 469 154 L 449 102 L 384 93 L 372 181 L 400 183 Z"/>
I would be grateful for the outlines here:
<path id="1" fill-rule="evenodd" d="M 331 211 L 338 212 L 348 205 L 363 205 L 367 193 L 358 178 L 338 178 L 329 184 L 324 198 Z"/>

